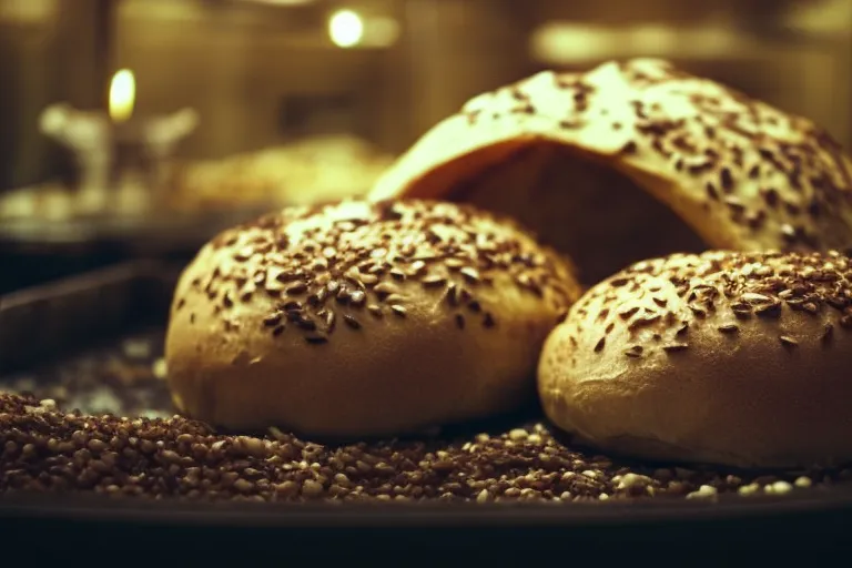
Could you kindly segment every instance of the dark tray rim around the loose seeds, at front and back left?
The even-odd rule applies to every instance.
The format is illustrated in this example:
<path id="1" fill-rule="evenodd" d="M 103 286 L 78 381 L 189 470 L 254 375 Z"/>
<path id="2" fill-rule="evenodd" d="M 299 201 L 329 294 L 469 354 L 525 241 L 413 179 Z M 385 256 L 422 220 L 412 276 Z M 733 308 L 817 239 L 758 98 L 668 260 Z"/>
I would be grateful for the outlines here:
<path id="1" fill-rule="evenodd" d="M 163 325 L 180 266 L 135 262 L 0 296 L 0 376 Z M 0 449 L 1 450 L 1 449 Z M 516 565 L 551 557 L 609 564 L 677 552 L 690 566 L 787 559 L 852 548 L 852 490 L 834 486 L 784 497 L 733 496 L 717 504 L 285 505 L 113 500 L 97 495 L 0 497 L 2 541 L 40 558 L 158 547 L 168 559 L 234 557 L 409 566 L 432 558 Z M 146 548 L 151 549 L 151 548 Z M 432 557 L 430 555 L 440 555 Z M 403 556 L 404 555 L 404 556 Z M 689 555 L 689 556 L 682 556 Z M 79 556 L 78 556 L 79 557 Z M 742 557 L 739 557 L 742 558 Z"/>

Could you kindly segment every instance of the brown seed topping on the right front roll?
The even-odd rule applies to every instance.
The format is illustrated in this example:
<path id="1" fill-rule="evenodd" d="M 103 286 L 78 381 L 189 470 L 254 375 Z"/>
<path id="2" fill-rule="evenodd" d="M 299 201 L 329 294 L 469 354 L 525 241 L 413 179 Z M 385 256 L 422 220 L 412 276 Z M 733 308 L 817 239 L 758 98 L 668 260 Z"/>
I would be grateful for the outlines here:
<path id="1" fill-rule="evenodd" d="M 679 302 L 661 296 L 663 285 L 666 294 Z M 602 354 L 607 336 L 625 328 L 636 338 L 649 338 L 647 329 L 669 337 L 659 348 L 677 354 L 689 348 L 689 327 L 710 314 L 719 322 L 714 325 L 720 334 L 736 336 L 742 321 L 784 320 L 797 312 L 809 317 L 833 314 L 843 328 L 852 314 L 852 261 L 846 255 L 836 251 L 674 254 L 635 264 L 591 288 L 572 315 L 598 314 L 605 335 L 587 343 L 595 353 Z M 830 338 L 833 325 L 825 325 L 821 334 Z M 677 335 L 687 338 L 674 341 Z M 779 334 L 778 341 L 788 348 L 799 344 L 791 334 Z M 630 349 L 626 355 L 636 358 L 641 353 Z"/>

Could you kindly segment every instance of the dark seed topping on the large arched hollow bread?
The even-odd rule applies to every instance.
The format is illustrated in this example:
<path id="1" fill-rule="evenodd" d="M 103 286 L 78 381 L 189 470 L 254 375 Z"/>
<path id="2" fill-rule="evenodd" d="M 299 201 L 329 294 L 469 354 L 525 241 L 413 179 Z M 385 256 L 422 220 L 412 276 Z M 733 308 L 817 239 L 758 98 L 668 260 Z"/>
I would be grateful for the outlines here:
<path id="1" fill-rule="evenodd" d="M 605 87 L 613 80 L 623 89 Z M 852 161 L 811 120 L 647 58 L 606 62 L 582 73 L 537 73 L 475 97 L 463 113 L 505 116 L 517 105 L 509 92 L 518 89 L 528 97 L 525 108 L 561 132 L 565 145 L 601 152 L 586 134 L 605 125 L 619 141 L 619 161 L 629 160 L 650 178 L 677 180 L 690 206 L 750 229 L 743 236 L 738 226 L 720 229 L 737 247 L 757 233 L 764 250 L 852 243 L 852 225 L 844 221 L 852 207 Z M 486 124 L 474 129 L 490 128 Z M 415 155 L 417 162 L 422 156 Z M 781 224 L 793 231 L 779 231 Z"/>

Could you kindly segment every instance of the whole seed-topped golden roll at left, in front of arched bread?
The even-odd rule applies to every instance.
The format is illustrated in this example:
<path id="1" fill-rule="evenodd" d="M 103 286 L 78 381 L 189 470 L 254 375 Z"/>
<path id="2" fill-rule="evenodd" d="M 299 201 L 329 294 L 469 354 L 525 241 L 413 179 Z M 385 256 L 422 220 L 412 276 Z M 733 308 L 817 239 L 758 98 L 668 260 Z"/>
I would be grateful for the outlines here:
<path id="1" fill-rule="evenodd" d="M 509 410 L 580 291 L 519 226 L 469 206 L 294 207 L 206 244 L 176 286 L 175 405 L 232 429 L 404 434 Z"/>

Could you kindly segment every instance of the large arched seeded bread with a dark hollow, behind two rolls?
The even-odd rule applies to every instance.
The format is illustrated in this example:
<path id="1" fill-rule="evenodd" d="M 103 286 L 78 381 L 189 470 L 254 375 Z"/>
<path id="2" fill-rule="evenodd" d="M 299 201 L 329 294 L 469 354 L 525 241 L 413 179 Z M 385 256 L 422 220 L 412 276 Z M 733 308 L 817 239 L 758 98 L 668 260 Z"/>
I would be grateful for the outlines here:
<path id="1" fill-rule="evenodd" d="M 852 163 L 811 121 L 658 59 L 546 71 L 427 132 L 372 199 L 505 212 L 584 284 L 673 252 L 852 245 Z"/>

